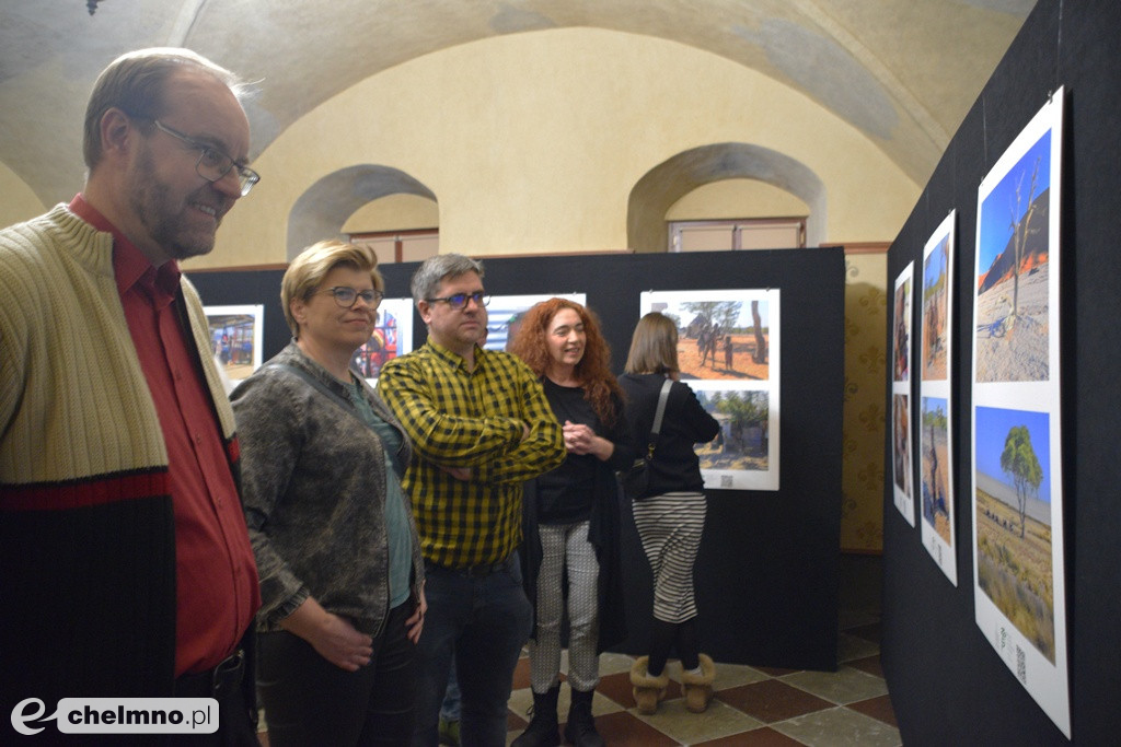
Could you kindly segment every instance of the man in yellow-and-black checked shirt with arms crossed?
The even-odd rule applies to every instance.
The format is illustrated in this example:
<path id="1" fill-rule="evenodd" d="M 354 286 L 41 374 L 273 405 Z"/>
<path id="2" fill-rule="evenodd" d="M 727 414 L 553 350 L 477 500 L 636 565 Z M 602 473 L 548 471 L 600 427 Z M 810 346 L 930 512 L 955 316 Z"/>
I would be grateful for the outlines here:
<path id="1" fill-rule="evenodd" d="M 506 744 L 507 701 L 532 609 L 521 589 L 521 484 L 565 457 L 560 426 L 520 360 L 485 351 L 482 264 L 426 260 L 413 300 L 428 342 L 386 363 L 378 392 L 405 426 L 414 458 L 402 486 L 425 558 L 415 745 L 437 741 L 452 657 L 465 745 Z"/>

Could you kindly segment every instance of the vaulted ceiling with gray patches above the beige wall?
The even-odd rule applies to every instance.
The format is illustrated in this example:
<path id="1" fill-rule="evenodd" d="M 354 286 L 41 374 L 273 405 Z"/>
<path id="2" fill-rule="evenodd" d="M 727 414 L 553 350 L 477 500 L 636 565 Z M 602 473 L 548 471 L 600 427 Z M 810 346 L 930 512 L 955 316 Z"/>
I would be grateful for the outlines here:
<path id="1" fill-rule="evenodd" d="M 861 130 L 925 184 L 1034 0 L 0 0 L 0 161 L 45 205 L 82 187 L 98 73 L 185 46 L 250 81 L 253 153 L 319 103 L 411 58 L 594 27 L 759 71 Z"/>

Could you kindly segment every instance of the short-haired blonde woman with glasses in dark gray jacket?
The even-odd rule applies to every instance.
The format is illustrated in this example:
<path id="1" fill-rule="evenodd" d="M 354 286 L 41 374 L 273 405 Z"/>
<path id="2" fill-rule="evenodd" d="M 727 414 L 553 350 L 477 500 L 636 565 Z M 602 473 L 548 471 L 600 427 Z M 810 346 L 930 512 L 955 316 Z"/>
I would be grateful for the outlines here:
<path id="1" fill-rule="evenodd" d="M 351 367 L 385 283 L 367 246 L 297 256 L 280 299 L 293 342 L 233 392 L 257 555 L 258 690 L 269 744 L 409 741 L 426 610 L 400 478 L 409 439 Z"/>

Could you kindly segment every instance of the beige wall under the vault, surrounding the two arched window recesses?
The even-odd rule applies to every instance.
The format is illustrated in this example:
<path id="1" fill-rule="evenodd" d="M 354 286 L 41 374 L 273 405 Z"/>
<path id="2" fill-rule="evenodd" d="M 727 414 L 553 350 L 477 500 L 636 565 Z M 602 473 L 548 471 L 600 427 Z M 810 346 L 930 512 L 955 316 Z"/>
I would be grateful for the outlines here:
<path id="1" fill-rule="evenodd" d="M 215 252 L 189 265 L 285 261 L 296 200 L 359 165 L 402 171 L 436 196 L 443 251 L 627 249 L 634 184 L 725 142 L 816 175 L 830 243 L 892 239 L 919 193 L 855 129 L 754 71 L 664 39 L 566 28 L 434 53 L 328 100 L 257 159 L 263 180 Z"/>

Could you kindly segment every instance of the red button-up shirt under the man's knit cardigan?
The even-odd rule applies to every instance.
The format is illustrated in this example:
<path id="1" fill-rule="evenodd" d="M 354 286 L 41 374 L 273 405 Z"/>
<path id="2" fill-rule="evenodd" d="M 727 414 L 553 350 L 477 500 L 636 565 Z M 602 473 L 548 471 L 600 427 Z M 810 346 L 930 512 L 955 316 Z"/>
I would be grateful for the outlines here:
<path id="1" fill-rule="evenodd" d="M 71 212 L 113 234 L 113 273 L 167 445 L 175 512 L 175 674 L 229 656 L 260 607 L 257 564 L 211 391 L 179 327 L 179 268 L 159 268 L 82 195 Z M 204 353 L 207 354 L 207 353 Z"/>

